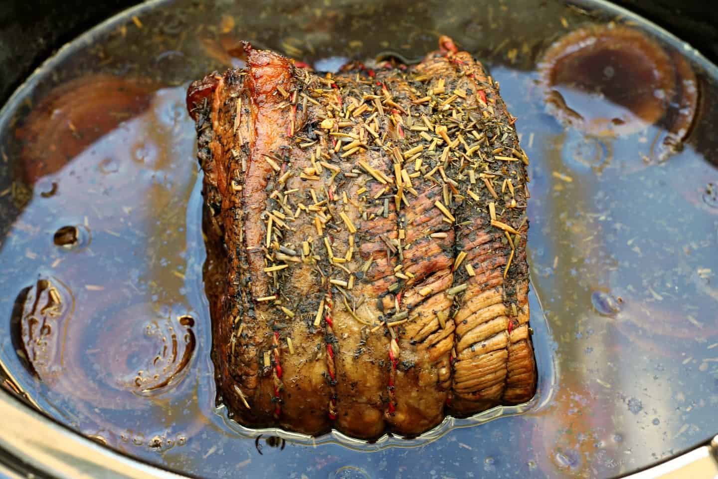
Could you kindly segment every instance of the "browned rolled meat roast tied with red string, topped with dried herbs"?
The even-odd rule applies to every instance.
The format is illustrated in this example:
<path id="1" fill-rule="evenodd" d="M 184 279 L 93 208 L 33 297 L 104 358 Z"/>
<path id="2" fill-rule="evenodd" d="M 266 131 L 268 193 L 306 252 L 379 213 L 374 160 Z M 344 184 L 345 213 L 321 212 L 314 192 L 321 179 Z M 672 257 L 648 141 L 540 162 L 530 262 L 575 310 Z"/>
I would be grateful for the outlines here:
<path id="1" fill-rule="evenodd" d="M 528 401 L 526 154 L 442 37 L 335 75 L 246 45 L 192 83 L 221 401 L 247 427 L 371 439 Z"/>

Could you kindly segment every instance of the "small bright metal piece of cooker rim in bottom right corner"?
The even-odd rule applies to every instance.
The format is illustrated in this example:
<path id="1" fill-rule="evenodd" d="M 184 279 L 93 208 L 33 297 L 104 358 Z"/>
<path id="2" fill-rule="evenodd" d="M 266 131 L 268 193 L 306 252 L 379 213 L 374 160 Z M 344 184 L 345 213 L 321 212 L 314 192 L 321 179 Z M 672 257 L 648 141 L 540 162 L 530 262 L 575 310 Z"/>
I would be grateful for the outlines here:
<path id="1" fill-rule="evenodd" d="M 718 436 L 711 444 L 626 476 L 624 479 L 714 479 L 718 478 Z"/>

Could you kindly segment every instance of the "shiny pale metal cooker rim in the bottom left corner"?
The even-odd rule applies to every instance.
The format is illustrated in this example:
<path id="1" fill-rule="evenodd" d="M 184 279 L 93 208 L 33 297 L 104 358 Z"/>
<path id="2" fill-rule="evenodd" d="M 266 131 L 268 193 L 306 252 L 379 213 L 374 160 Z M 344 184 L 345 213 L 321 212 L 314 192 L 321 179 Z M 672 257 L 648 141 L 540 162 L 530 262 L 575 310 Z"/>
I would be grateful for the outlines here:
<path id="1" fill-rule="evenodd" d="M 0 434 L 0 477 L 3 477 L 2 474 L 6 471 L 14 473 L 16 466 L 21 463 L 23 471 L 29 468 L 52 478 L 187 477 L 129 459 L 102 447 L 23 406 L 4 392 L 0 392 L 0 417 L 3 418 Z M 10 478 L 16 476 L 9 475 Z"/>

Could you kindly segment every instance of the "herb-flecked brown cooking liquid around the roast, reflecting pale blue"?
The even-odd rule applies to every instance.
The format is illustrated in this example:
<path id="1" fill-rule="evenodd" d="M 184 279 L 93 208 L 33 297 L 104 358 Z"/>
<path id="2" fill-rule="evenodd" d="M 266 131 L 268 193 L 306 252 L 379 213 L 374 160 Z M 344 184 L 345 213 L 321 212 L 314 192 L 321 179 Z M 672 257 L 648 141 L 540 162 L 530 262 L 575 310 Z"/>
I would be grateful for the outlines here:
<path id="1" fill-rule="evenodd" d="M 208 477 L 618 475 L 717 433 L 718 139 L 707 118 L 718 70 L 621 20 L 686 55 L 701 86 L 699 121 L 662 157 L 655 140 L 670 126 L 590 136 L 547 113 L 542 52 L 615 11 L 435 3 L 402 4 L 396 17 L 391 2 L 156 2 L 39 70 L 0 118 L 6 389 L 128 455 Z M 240 427 L 215 407 L 188 83 L 241 65 L 241 39 L 337 68 L 386 50 L 421 57 L 442 33 L 490 68 L 531 159 L 536 398 L 411 441 Z M 625 109 L 562 88 L 579 114 Z"/>

